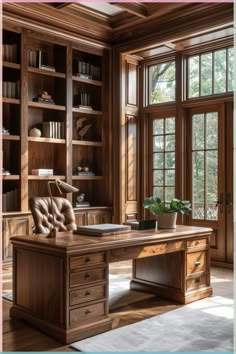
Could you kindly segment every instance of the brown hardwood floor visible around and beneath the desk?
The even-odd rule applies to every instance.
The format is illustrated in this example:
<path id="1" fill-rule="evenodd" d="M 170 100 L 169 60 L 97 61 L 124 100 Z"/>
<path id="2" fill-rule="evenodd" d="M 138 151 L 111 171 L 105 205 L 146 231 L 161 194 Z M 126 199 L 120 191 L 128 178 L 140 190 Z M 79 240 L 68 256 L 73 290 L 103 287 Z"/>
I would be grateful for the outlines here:
<path id="1" fill-rule="evenodd" d="M 110 273 L 131 278 L 131 262 L 120 262 L 110 265 Z M 4 293 L 12 288 L 11 264 L 3 265 L 2 274 Z M 233 270 L 212 268 L 213 294 L 233 298 Z M 153 297 L 138 303 L 125 306 L 110 313 L 113 328 L 122 327 L 143 319 L 174 310 L 182 305 L 173 301 Z M 58 341 L 31 328 L 23 321 L 11 320 L 9 310 L 11 302 L 3 300 L 3 351 L 74 351 L 69 345 L 62 345 Z"/>

